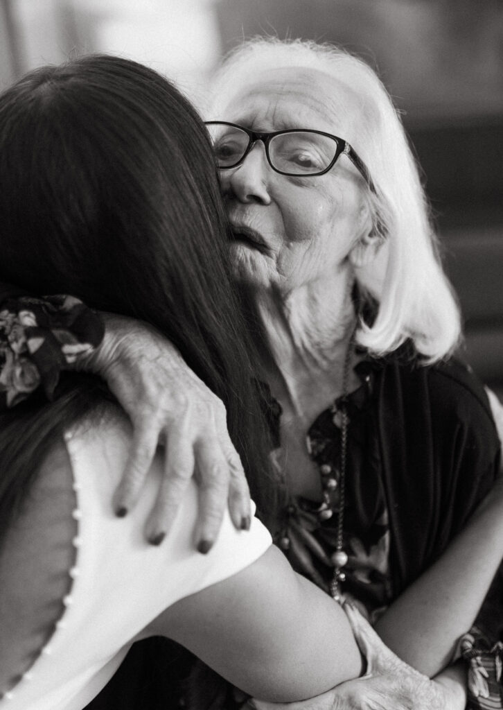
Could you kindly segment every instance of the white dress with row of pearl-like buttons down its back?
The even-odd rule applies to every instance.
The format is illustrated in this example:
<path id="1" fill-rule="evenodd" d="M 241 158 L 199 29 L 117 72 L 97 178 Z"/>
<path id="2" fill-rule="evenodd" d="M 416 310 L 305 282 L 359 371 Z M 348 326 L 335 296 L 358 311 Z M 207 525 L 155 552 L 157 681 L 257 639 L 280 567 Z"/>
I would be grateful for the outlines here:
<path id="1" fill-rule="evenodd" d="M 190 484 L 170 535 L 158 547 L 148 545 L 144 525 L 162 459 L 155 459 L 140 501 L 126 518 L 117 518 L 111 506 L 130 441 L 131 427 L 118 417 L 67 433 L 77 529 L 69 594 L 47 643 L 33 648 L 31 663 L 4 692 L 1 710 L 81 710 L 150 621 L 175 601 L 255 562 L 271 544 L 256 518 L 250 532 L 238 532 L 226 514 L 213 549 L 199 554 L 193 540 L 197 489 Z"/>

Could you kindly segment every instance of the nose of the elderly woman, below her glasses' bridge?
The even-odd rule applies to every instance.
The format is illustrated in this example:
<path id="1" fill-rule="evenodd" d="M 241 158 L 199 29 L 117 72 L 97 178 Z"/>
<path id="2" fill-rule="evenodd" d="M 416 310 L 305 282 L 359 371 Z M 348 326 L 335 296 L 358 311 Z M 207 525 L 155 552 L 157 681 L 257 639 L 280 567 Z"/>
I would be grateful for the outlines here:
<path id="1" fill-rule="evenodd" d="M 265 146 L 262 141 L 257 141 L 241 165 L 221 172 L 223 191 L 231 190 L 240 202 L 270 204 L 268 190 L 270 170 Z"/>

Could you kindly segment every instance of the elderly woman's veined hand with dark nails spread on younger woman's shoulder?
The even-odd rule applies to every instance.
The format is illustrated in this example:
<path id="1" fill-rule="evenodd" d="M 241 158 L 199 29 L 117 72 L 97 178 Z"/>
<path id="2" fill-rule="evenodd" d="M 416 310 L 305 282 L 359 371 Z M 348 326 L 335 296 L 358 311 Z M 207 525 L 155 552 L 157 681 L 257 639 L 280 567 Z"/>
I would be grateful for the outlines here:
<path id="1" fill-rule="evenodd" d="M 199 551 L 207 552 L 227 504 L 236 528 L 250 524 L 248 484 L 223 403 L 153 328 L 115 315 L 104 319 L 103 343 L 79 368 L 104 378 L 133 425 L 116 513 L 126 515 L 135 505 L 157 446 L 165 444 L 165 477 L 145 534 L 153 544 L 162 541 L 195 471 L 200 510 L 194 539 Z"/>

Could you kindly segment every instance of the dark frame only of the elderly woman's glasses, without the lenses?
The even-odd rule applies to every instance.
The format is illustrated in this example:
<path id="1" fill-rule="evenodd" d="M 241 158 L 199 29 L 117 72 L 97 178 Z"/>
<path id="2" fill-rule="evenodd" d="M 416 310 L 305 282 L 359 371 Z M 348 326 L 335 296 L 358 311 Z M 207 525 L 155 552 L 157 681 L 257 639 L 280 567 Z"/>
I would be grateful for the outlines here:
<path id="1" fill-rule="evenodd" d="M 328 170 L 331 170 L 333 168 L 333 166 L 336 164 L 338 158 L 340 158 L 341 155 L 347 155 L 353 165 L 355 165 L 355 168 L 358 170 L 360 175 L 362 175 L 371 192 L 375 192 L 374 183 L 372 182 L 372 178 L 370 178 L 369 170 L 363 160 L 360 158 L 358 153 L 356 153 L 354 148 L 350 146 L 350 143 L 348 143 L 348 141 L 345 141 L 344 138 L 339 138 L 339 136 L 334 136 L 333 133 L 325 133 L 325 131 L 317 131 L 316 129 L 284 129 L 283 131 L 271 132 L 251 131 L 250 129 L 245 129 L 244 126 L 240 126 L 239 124 L 233 124 L 231 123 L 231 121 L 204 121 L 204 125 L 232 126 L 235 129 L 243 131 L 243 133 L 246 133 L 248 136 L 248 148 L 246 148 L 243 155 L 241 155 L 241 158 L 233 165 L 218 165 L 219 170 L 231 170 L 231 168 L 237 168 L 238 165 L 241 165 L 241 163 L 243 163 L 243 160 L 245 160 L 248 153 L 250 153 L 253 146 L 255 146 L 255 143 L 257 141 L 262 141 L 262 143 L 264 143 L 267 163 L 269 163 L 270 167 L 272 168 L 272 170 L 275 171 L 275 173 L 279 173 L 280 175 L 287 175 L 287 177 L 289 178 L 317 178 L 319 175 L 325 175 L 325 173 L 328 173 Z M 272 161 L 269 155 L 269 143 L 270 141 L 272 141 L 272 138 L 275 138 L 275 136 L 281 136 L 286 133 L 316 133 L 319 136 L 325 136 L 326 138 L 331 138 L 333 141 L 336 141 L 336 154 L 331 160 L 330 165 L 328 165 L 328 167 L 324 170 L 320 170 L 319 173 L 309 173 L 309 175 L 305 175 L 304 173 L 284 173 L 283 170 L 275 168 L 275 166 L 272 165 Z"/>

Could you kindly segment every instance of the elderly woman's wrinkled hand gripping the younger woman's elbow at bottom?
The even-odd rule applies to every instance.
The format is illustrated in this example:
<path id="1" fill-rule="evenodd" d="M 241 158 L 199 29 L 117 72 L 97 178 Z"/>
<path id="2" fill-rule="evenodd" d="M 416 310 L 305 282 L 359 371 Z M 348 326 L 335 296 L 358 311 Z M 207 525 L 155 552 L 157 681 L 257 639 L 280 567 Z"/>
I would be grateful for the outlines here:
<path id="1" fill-rule="evenodd" d="M 464 710 L 466 695 L 455 672 L 435 680 L 411 668 L 382 643 L 355 608 L 345 605 L 353 633 L 367 659 L 361 678 L 298 703 L 253 701 L 257 710 Z"/>

